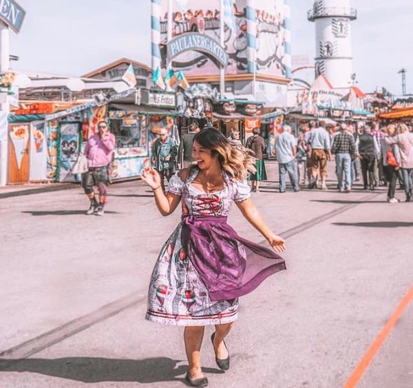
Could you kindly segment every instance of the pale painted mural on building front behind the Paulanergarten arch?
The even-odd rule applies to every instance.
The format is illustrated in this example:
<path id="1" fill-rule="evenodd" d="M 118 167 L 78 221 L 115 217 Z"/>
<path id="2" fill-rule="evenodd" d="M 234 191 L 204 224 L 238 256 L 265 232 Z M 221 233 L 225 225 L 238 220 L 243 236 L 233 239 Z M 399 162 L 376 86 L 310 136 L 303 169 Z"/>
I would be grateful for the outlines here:
<path id="1" fill-rule="evenodd" d="M 186 3 L 186 8 L 178 3 Z M 226 74 L 248 72 L 248 39 L 246 6 L 248 0 L 233 2 L 233 28 L 224 26 L 224 45 L 229 54 Z M 167 61 L 167 0 L 161 1 L 160 51 L 162 65 Z M 220 41 L 220 0 L 173 1 L 172 37 L 187 32 L 199 32 Z M 257 42 L 257 72 L 285 76 L 284 0 L 255 0 L 255 38 Z M 251 58 L 253 60 L 253 58 Z M 185 76 L 218 74 L 219 70 L 204 54 L 187 51 L 173 58 L 173 70 L 182 70 Z"/>

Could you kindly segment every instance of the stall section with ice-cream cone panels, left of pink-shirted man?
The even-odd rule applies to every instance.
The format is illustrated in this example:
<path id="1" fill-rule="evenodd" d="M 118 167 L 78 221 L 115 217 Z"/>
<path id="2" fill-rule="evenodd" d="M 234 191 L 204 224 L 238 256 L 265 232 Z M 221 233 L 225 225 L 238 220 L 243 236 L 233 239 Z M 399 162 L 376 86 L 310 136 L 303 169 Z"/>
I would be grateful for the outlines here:
<path id="1" fill-rule="evenodd" d="M 22 105 L 8 117 L 8 183 L 75 182 L 70 170 L 105 108 L 94 102 Z"/>

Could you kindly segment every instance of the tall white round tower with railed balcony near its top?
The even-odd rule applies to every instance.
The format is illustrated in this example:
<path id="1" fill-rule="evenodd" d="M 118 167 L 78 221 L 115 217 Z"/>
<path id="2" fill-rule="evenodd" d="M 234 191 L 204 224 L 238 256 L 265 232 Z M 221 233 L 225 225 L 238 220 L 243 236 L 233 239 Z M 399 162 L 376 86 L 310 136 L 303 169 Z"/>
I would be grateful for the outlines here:
<path id="1" fill-rule="evenodd" d="M 315 21 L 315 76 L 324 74 L 334 88 L 354 81 L 350 21 L 355 19 L 350 0 L 315 0 L 308 11 L 308 20 Z"/>

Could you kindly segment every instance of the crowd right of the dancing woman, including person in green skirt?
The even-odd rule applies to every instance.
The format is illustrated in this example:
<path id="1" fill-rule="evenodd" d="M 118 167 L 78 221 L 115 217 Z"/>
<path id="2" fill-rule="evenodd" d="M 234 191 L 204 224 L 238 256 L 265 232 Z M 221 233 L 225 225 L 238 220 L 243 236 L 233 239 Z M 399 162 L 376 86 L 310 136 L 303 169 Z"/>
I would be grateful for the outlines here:
<path id="1" fill-rule="evenodd" d="M 362 180 L 363 190 L 374 191 L 388 186 L 390 203 L 397 203 L 396 185 L 405 192 L 405 201 L 413 201 L 413 128 L 403 122 L 380 125 L 373 121 L 354 125 L 311 120 L 301 125 L 296 136 L 290 125 L 283 125 L 275 140 L 279 169 L 279 192 L 286 192 L 286 175 L 294 192 L 302 187 L 312 190 L 336 189 L 350 193 L 354 183 Z M 231 134 L 231 139 L 233 139 Z M 260 146 L 258 146 L 260 144 Z M 257 158 L 257 172 L 250 174 L 251 191 L 259 192 L 266 180 L 262 156 L 265 149 L 260 129 L 246 141 Z M 337 185 L 327 185 L 327 165 L 335 163 Z"/>

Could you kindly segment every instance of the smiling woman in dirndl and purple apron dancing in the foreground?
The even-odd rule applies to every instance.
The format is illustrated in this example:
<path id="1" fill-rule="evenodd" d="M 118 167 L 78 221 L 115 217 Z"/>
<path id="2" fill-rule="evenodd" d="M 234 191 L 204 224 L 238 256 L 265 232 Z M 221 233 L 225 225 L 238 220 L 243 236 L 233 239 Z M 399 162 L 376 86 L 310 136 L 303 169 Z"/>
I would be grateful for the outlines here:
<path id="1" fill-rule="evenodd" d="M 222 371 L 228 370 L 224 338 L 237 319 L 238 297 L 286 269 L 276 253 L 284 252 L 285 242 L 264 223 L 251 200 L 246 181 L 248 171 L 255 170 L 251 151 L 208 127 L 193 139 L 193 158 L 196 164 L 174 174 L 166 194 L 156 170 L 145 167 L 142 172 L 163 216 L 182 204 L 182 221 L 153 269 L 146 318 L 184 326 L 189 363 L 185 380 L 193 387 L 205 387 L 208 379 L 200 364 L 204 327 L 215 325 L 211 336 L 215 361 Z M 233 202 L 273 249 L 242 238 L 226 223 Z"/>

